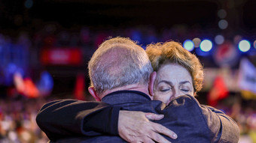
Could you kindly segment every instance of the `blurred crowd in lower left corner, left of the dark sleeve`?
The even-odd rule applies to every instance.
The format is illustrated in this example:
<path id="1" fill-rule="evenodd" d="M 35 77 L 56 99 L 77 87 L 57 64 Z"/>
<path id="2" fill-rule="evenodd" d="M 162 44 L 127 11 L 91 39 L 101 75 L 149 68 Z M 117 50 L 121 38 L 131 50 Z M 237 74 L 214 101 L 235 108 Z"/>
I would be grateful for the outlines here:
<path id="1" fill-rule="evenodd" d="M 46 102 L 42 98 L 0 99 L 0 142 L 47 142 L 47 136 L 35 122 L 38 110 Z"/>

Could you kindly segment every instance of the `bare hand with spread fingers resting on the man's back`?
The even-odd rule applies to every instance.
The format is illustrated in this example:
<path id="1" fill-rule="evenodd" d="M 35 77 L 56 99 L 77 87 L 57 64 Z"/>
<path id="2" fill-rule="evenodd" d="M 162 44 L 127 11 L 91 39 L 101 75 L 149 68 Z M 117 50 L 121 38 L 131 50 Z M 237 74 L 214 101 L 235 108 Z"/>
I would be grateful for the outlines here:
<path id="1" fill-rule="evenodd" d="M 119 136 L 126 142 L 169 142 L 160 134 L 177 139 L 171 130 L 149 120 L 160 120 L 163 115 L 121 110 L 118 119 Z"/>

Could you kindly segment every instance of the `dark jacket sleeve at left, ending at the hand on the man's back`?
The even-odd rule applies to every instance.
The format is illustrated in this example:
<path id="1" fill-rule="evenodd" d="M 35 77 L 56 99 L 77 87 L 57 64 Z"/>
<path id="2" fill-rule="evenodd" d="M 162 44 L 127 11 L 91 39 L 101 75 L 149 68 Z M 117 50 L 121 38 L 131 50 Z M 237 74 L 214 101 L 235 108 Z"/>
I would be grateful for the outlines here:
<path id="1" fill-rule="evenodd" d="M 56 100 L 46 103 L 36 122 L 51 141 L 69 136 L 117 135 L 120 107 L 81 100 Z"/>

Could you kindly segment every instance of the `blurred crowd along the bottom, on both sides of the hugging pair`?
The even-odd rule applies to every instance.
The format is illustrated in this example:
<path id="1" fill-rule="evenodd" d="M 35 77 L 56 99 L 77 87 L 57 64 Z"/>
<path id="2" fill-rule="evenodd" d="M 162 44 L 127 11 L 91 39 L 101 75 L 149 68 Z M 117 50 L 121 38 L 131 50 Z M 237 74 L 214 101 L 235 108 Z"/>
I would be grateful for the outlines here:
<path id="1" fill-rule="evenodd" d="M 239 98 L 239 97 L 238 97 Z M 0 142 L 2 143 L 44 143 L 47 136 L 38 128 L 35 117 L 38 110 L 50 100 L 45 98 L 29 99 L 27 97 L 0 99 Z M 224 111 L 239 125 L 239 143 L 256 142 L 256 110 L 253 102 L 241 105 L 241 102 L 230 106 L 228 100 L 221 101 L 217 108 Z"/>

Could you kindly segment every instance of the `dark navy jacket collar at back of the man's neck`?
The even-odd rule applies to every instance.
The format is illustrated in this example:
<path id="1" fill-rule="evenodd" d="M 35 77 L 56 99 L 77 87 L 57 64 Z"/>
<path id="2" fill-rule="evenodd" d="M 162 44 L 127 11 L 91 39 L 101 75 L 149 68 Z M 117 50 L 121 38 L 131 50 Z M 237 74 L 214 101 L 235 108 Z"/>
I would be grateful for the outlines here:
<path id="1" fill-rule="evenodd" d="M 123 103 L 145 103 L 151 100 L 147 94 L 140 91 L 114 91 L 102 98 L 102 102 L 111 105 Z"/>

